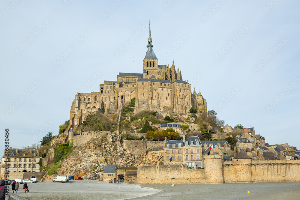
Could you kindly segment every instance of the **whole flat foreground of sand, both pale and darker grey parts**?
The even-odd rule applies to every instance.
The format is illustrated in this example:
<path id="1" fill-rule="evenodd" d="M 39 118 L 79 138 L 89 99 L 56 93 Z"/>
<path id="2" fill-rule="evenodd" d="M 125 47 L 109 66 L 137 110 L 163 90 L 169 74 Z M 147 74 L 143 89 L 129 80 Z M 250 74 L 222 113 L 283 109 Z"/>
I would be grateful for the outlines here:
<path id="1" fill-rule="evenodd" d="M 259 199 L 299 200 L 300 183 L 232 184 L 109 184 L 94 180 L 71 180 L 69 183 L 28 184 L 24 194 L 29 200 L 40 199 Z M 11 191 L 11 186 L 10 186 Z M 249 194 L 247 192 L 250 192 Z"/>

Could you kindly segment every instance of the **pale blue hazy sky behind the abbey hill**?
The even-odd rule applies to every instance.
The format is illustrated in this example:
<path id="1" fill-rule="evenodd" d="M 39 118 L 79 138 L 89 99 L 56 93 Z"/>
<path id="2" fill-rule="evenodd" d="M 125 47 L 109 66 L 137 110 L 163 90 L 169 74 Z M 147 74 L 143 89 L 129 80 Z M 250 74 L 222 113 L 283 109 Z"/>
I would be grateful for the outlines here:
<path id="1" fill-rule="evenodd" d="M 143 73 L 149 19 L 159 64 L 174 64 L 234 127 L 300 148 L 300 1 L 0 2 L 0 127 L 38 143 L 70 118 L 77 92 Z M 1 141 L 1 140 L 0 140 Z M 5 137 L 2 135 L 2 151 Z"/>

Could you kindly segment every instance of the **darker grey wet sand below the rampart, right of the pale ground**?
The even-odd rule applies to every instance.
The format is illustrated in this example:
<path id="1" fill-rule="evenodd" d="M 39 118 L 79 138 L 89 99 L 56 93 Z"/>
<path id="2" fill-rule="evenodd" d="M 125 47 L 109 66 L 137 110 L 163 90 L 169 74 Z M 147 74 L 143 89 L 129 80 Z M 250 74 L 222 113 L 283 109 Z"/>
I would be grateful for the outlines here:
<path id="1" fill-rule="evenodd" d="M 162 191 L 136 199 L 272 199 L 299 200 L 300 183 L 142 184 Z M 250 192 L 249 194 L 247 192 Z"/>

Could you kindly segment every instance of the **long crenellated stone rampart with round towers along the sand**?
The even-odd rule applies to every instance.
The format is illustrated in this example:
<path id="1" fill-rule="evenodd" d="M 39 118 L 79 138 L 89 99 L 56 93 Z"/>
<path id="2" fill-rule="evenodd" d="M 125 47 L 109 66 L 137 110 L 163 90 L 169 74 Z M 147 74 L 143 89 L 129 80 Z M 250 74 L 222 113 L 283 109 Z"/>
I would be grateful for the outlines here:
<path id="1" fill-rule="evenodd" d="M 203 163 L 204 169 L 187 169 L 185 164 L 140 165 L 137 182 L 161 184 L 300 181 L 300 160 L 222 161 L 220 155 L 206 155 Z"/>

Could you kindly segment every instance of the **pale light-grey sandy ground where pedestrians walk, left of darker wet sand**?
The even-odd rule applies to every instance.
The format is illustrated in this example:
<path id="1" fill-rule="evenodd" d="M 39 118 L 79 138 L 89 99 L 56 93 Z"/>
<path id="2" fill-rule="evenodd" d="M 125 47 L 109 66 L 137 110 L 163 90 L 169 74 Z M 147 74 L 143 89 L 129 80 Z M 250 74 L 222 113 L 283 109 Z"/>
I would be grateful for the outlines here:
<path id="1" fill-rule="evenodd" d="M 140 187 L 137 184 L 109 184 L 96 180 L 70 180 L 66 183 L 32 183 L 27 184 L 28 190 L 24 193 L 23 184 L 20 184 L 18 194 L 29 200 L 63 200 L 63 199 L 132 199 L 153 195 L 160 189 Z M 11 185 L 9 192 L 12 192 Z"/>

